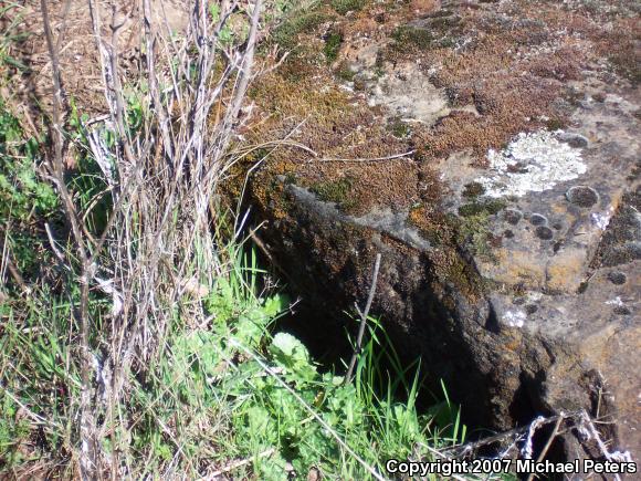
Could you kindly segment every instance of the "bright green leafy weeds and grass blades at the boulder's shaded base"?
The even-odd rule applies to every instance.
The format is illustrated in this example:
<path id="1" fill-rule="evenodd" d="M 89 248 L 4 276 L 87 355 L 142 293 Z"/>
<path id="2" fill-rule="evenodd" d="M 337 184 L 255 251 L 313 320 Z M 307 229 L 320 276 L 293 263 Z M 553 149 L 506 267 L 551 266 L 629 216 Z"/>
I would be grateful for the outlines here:
<path id="1" fill-rule="evenodd" d="M 280 457 L 260 464 L 264 478 L 282 472 L 285 462 L 301 473 L 317 467 L 343 479 L 367 477 L 362 464 L 345 457 L 336 437 L 379 472 L 383 472 L 386 459 L 408 457 L 412 447 L 421 443 L 433 446 L 431 416 L 419 415 L 416 408 L 418 370 L 408 378 L 409 370 L 401 367 L 396 354 L 380 349 L 382 332 L 375 320 L 370 321 L 369 341 L 358 358 L 354 384 L 345 384 L 332 373 L 320 374 L 306 347 L 292 335 L 273 337 L 264 362 L 274 369 L 255 381 L 259 389 L 234 418 L 237 432 L 248 439 L 248 449 L 253 447 L 258 453 L 271 446 L 281 447 Z M 382 367 L 385 356 L 391 373 Z M 264 370 L 265 365 L 262 367 Z M 403 400 L 397 400 L 399 397 Z M 452 442 L 464 437 L 464 428 L 461 430 L 455 418 L 448 421 L 455 424 Z"/>

